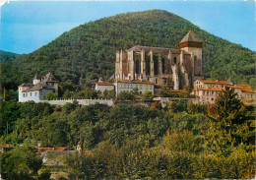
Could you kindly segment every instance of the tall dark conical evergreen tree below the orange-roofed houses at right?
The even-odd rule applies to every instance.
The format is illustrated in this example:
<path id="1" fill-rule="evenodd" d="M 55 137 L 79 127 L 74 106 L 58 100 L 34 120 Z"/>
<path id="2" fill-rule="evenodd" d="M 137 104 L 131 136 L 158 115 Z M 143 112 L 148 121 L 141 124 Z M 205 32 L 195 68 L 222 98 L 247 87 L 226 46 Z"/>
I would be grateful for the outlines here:
<path id="1" fill-rule="evenodd" d="M 253 136 L 245 107 L 236 96 L 234 89 L 225 88 L 208 114 L 212 122 L 207 134 L 208 148 L 222 155 L 228 155 L 238 145 L 248 145 Z"/>

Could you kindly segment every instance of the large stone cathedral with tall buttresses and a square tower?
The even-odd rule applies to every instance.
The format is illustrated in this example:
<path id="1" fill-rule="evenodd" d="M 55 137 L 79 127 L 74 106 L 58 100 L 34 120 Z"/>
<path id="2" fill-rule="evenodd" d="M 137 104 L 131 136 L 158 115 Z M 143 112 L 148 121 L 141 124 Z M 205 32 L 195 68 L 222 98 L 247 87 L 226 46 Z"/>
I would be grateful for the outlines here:
<path id="1" fill-rule="evenodd" d="M 193 86 L 203 79 L 203 40 L 190 30 L 180 41 L 179 49 L 134 46 L 116 52 L 115 81 L 150 81 L 172 90 Z"/>

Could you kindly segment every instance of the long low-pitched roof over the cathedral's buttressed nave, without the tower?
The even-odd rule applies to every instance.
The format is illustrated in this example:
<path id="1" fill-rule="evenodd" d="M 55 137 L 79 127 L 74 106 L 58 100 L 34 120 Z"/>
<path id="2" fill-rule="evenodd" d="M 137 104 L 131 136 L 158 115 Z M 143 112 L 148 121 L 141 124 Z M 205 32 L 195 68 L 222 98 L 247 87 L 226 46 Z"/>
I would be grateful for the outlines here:
<path id="1" fill-rule="evenodd" d="M 163 47 L 151 47 L 151 46 L 140 46 L 140 45 L 133 46 L 132 48 L 128 49 L 127 51 L 131 51 L 131 50 L 133 50 L 133 51 L 145 50 L 145 52 L 153 51 L 153 52 L 161 52 L 161 53 L 168 53 L 170 51 L 171 53 L 174 53 L 174 54 L 180 54 L 181 53 L 180 49 L 163 48 Z M 184 54 L 189 54 L 186 51 L 183 51 L 183 53 Z"/>

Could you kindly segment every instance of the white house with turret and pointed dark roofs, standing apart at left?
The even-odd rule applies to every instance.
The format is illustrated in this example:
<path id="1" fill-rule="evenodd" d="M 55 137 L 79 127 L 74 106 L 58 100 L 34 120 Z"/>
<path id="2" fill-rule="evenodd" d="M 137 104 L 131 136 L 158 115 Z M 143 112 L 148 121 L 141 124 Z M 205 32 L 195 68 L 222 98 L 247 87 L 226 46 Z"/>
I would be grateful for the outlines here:
<path id="1" fill-rule="evenodd" d="M 48 92 L 58 92 L 58 81 L 51 73 L 46 74 L 41 80 L 35 74 L 32 84 L 19 86 L 19 102 L 39 102 L 44 99 Z"/>

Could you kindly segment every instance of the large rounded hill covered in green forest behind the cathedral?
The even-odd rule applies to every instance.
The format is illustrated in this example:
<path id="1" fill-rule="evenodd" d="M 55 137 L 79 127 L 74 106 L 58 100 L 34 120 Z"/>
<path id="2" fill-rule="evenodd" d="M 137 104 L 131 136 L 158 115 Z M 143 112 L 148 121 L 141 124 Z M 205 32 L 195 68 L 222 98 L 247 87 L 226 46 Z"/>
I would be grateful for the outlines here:
<path id="1" fill-rule="evenodd" d="M 203 70 L 206 78 L 254 83 L 255 52 L 217 37 L 166 11 L 126 13 L 81 25 L 13 64 L 3 72 L 8 88 L 31 82 L 34 73 L 48 71 L 62 83 L 81 85 L 107 79 L 114 73 L 115 52 L 134 45 L 178 48 L 179 41 L 194 30 L 203 40 Z"/>

